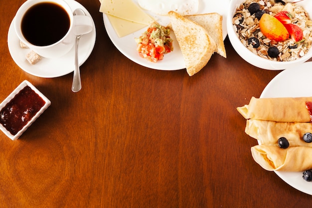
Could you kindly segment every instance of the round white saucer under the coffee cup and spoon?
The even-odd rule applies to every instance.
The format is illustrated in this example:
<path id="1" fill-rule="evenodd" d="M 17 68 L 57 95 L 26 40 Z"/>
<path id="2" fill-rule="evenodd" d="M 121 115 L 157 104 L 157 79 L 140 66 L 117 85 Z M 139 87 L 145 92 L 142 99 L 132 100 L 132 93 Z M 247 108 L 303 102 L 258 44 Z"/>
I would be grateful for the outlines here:
<path id="1" fill-rule="evenodd" d="M 72 10 L 81 8 L 86 15 L 91 17 L 88 10 L 75 0 L 65 0 Z M 92 18 L 92 17 L 91 17 Z M 93 21 L 93 19 L 92 19 Z M 30 49 L 21 48 L 19 39 L 14 30 L 14 19 L 12 20 L 7 34 L 7 45 L 15 63 L 25 72 L 38 77 L 59 77 L 74 71 L 74 47 L 64 56 L 59 58 L 42 58 L 38 63 L 31 65 L 25 58 Z M 82 65 L 90 56 L 96 39 L 95 24 L 93 30 L 80 38 L 78 49 L 79 65 Z"/>

